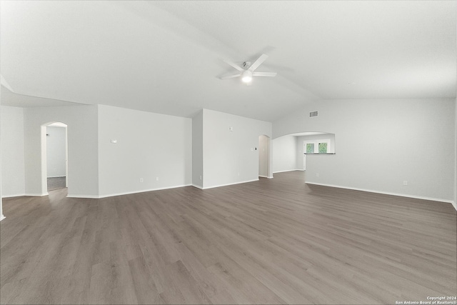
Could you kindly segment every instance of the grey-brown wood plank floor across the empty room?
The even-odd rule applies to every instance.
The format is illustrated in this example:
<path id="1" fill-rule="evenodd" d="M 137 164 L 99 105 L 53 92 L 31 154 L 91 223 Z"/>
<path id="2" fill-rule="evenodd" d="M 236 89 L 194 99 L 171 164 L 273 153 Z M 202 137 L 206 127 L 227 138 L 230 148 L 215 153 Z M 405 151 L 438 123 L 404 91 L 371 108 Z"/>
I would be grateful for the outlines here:
<path id="1" fill-rule="evenodd" d="M 247 184 L 4 199 L 1 304 L 395 304 L 455 296 L 451 204 Z"/>

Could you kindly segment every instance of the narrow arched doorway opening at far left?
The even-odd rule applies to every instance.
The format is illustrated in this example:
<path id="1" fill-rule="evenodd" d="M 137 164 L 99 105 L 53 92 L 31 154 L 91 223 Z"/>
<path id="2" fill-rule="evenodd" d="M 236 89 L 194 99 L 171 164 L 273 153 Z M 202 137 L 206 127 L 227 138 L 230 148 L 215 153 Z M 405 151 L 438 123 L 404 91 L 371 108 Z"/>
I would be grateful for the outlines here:
<path id="1" fill-rule="evenodd" d="M 67 125 L 61 122 L 41 126 L 41 188 L 48 191 L 68 187 Z"/>

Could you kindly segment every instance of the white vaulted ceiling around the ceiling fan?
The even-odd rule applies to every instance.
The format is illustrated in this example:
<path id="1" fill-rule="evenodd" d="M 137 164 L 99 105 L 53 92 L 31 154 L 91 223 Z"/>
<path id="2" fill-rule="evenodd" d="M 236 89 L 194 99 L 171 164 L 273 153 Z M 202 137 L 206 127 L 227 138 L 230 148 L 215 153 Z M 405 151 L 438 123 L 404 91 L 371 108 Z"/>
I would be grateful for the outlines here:
<path id="1" fill-rule="evenodd" d="M 1 1 L 1 104 L 274 121 L 322 99 L 456 97 L 456 1 Z M 224 59 L 268 59 L 251 86 Z"/>

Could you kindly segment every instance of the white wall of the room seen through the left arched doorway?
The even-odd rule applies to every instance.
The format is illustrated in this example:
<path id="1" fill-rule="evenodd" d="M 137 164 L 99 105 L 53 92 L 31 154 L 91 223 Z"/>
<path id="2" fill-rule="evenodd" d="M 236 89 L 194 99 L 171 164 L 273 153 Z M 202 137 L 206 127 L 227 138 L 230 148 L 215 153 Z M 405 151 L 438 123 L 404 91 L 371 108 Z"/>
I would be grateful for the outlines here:
<path id="1" fill-rule="evenodd" d="M 46 173 L 47 177 L 66 176 L 66 128 L 46 127 Z"/>

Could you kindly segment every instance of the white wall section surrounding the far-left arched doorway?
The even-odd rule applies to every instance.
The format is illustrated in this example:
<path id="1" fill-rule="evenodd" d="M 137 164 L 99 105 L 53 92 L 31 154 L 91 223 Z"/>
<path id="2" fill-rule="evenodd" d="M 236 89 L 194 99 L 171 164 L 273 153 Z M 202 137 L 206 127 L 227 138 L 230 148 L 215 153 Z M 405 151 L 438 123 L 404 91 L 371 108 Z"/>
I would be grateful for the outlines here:
<path id="1" fill-rule="evenodd" d="M 97 106 L 58 106 L 24 109 L 25 193 L 43 196 L 46 191 L 46 127 L 66 124 L 68 132 L 69 195 L 99 194 Z M 3 177 L 4 179 L 5 176 Z"/>

